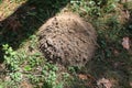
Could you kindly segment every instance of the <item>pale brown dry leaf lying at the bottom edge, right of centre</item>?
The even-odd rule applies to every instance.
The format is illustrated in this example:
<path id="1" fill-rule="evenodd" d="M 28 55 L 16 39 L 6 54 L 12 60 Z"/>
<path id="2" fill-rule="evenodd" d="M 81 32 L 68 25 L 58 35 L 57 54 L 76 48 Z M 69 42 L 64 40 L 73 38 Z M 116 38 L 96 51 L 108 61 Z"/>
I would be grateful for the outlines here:
<path id="1" fill-rule="evenodd" d="M 112 88 L 112 82 L 109 79 L 101 78 L 97 81 L 97 85 L 103 85 L 106 88 Z"/>

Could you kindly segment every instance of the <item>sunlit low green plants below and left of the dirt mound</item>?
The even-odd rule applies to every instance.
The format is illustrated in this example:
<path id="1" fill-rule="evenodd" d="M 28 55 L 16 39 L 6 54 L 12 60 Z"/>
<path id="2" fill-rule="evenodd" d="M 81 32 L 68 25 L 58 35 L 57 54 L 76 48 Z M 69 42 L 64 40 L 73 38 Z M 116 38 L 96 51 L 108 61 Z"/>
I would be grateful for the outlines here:
<path id="1" fill-rule="evenodd" d="M 35 36 L 31 36 L 32 50 L 35 50 Z M 4 65 L 7 69 L 7 76 L 9 79 L 7 81 L 8 86 L 13 85 L 19 86 L 22 80 L 29 79 L 31 84 L 43 84 L 43 88 L 63 88 L 63 81 L 57 81 L 58 67 L 56 65 L 45 62 L 40 52 L 33 54 L 22 51 L 13 51 L 8 44 L 2 45 L 4 51 Z M 32 52 L 32 51 L 31 51 Z M 24 78 L 23 78 L 24 77 Z M 38 87 L 38 85 L 34 85 Z"/>

